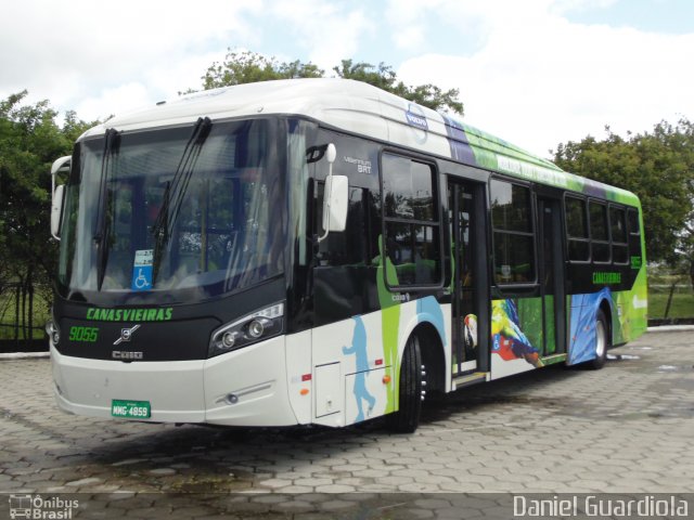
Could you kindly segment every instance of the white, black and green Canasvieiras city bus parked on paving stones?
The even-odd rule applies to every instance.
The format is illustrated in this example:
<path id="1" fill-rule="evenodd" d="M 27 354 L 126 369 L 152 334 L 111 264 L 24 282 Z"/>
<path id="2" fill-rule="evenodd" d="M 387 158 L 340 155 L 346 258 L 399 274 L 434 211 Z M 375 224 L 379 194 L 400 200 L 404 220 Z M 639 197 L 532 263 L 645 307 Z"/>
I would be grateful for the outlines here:
<path id="1" fill-rule="evenodd" d="M 68 413 L 412 432 L 433 392 L 646 328 L 637 196 L 362 82 L 160 102 L 52 173 Z"/>

